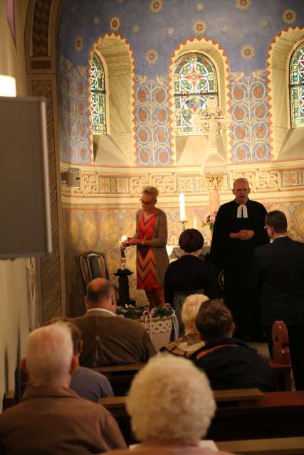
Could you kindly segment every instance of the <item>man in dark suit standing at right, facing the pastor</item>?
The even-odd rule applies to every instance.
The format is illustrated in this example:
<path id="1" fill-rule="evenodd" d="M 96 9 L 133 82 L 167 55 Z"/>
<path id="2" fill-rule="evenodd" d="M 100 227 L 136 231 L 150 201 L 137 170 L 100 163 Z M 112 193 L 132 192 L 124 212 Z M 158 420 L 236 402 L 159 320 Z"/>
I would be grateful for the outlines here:
<path id="1" fill-rule="evenodd" d="M 285 214 L 266 215 L 270 245 L 253 252 L 251 284 L 261 290 L 261 324 L 266 328 L 272 354 L 271 327 L 284 321 L 288 328 L 290 358 L 297 390 L 304 390 L 304 244 L 287 235 Z"/>

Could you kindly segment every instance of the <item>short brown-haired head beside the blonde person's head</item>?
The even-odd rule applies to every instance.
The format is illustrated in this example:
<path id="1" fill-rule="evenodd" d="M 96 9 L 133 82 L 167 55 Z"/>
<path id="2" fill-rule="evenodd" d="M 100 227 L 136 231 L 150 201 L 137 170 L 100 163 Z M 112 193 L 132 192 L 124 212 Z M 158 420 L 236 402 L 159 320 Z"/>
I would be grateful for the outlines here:
<path id="1" fill-rule="evenodd" d="M 231 311 L 221 299 L 204 301 L 196 315 L 195 324 L 206 343 L 229 338 L 234 328 Z"/>

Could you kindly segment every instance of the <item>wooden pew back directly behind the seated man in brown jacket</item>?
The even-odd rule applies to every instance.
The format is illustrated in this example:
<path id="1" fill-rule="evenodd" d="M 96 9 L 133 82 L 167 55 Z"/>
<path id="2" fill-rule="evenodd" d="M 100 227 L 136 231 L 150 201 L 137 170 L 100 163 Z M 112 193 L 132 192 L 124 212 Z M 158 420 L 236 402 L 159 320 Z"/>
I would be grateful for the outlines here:
<path id="1" fill-rule="evenodd" d="M 114 395 L 117 397 L 127 394 L 133 378 L 143 366 L 145 366 L 145 363 L 128 363 L 127 365 L 97 367 L 92 368 L 92 370 L 97 371 L 108 378 L 112 385 Z"/>

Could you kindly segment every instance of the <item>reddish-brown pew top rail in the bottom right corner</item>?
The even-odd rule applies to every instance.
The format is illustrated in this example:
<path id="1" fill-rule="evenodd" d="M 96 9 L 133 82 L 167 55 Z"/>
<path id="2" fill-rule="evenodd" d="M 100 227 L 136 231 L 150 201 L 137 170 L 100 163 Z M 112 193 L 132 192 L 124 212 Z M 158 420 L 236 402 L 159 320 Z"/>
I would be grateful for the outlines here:
<path id="1" fill-rule="evenodd" d="M 216 442 L 219 450 L 243 455 L 303 455 L 304 437 Z"/>

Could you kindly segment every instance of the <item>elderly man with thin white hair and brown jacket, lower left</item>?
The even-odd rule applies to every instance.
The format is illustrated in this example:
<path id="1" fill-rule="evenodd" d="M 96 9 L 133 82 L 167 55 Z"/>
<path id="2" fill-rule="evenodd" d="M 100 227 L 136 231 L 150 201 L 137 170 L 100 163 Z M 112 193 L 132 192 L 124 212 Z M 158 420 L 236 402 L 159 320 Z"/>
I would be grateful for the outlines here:
<path id="1" fill-rule="evenodd" d="M 1 454 L 86 455 L 125 447 L 110 413 L 68 388 L 75 365 L 68 326 L 31 332 L 22 360 L 31 387 L 0 416 Z"/>

